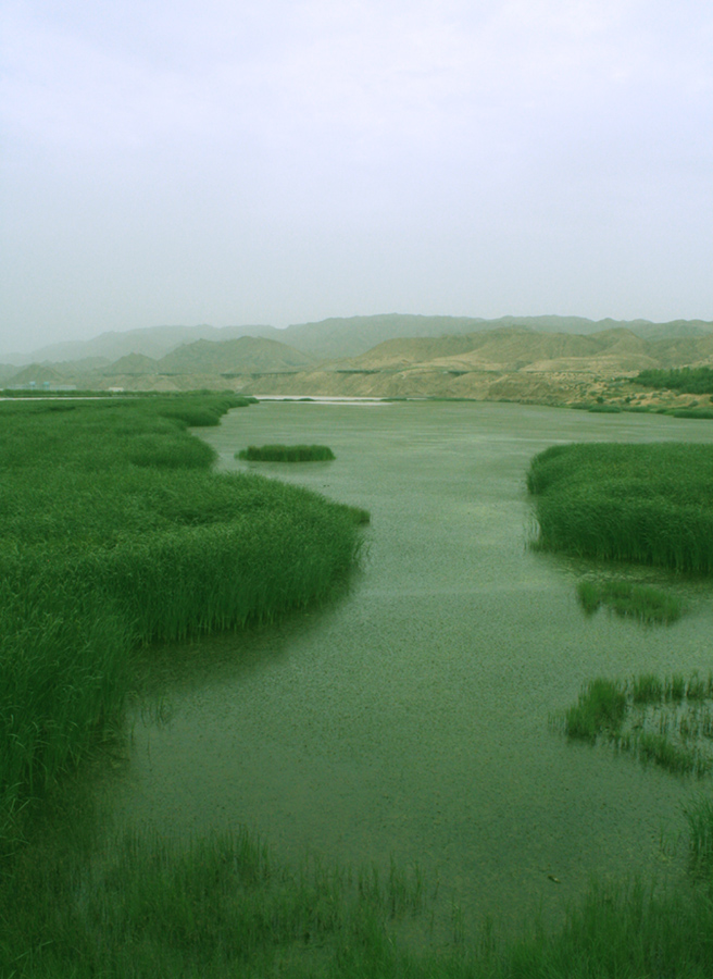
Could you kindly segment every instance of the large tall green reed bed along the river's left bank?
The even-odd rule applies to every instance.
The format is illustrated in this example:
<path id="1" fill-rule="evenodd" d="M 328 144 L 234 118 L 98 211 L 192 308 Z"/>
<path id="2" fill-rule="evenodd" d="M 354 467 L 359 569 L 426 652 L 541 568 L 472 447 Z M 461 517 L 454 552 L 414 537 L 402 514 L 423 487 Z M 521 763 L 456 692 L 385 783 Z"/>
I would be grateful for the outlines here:
<path id="1" fill-rule="evenodd" d="M 132 650 L 324 597 L 360 511 L 210 471 L 225 396 L 0 406 L 0 852 L 105 736 Z"/>

